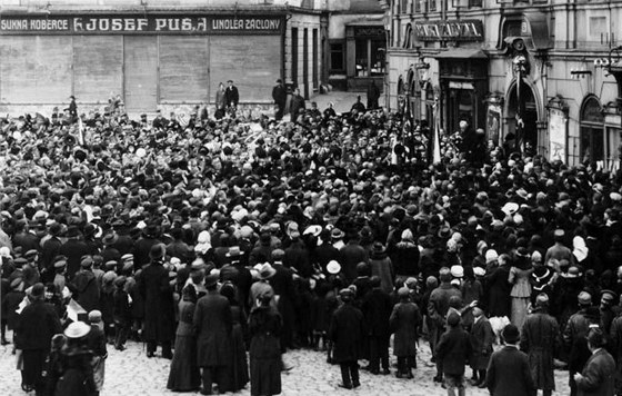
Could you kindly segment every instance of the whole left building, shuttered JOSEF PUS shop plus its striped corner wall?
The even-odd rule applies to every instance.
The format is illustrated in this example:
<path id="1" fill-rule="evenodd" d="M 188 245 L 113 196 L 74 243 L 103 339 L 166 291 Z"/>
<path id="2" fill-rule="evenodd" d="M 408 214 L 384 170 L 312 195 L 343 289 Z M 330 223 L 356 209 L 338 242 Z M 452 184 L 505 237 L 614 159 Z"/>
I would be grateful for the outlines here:
<path id="1" fill-rule="evenodd" d="M 0 111 L 121 96 L 153 112 L 213 103 L 230 79 L 248 106 L 269 108 L 277 79 L 309 97 L 324 16 L 321 0 L 0 0 Z"/>

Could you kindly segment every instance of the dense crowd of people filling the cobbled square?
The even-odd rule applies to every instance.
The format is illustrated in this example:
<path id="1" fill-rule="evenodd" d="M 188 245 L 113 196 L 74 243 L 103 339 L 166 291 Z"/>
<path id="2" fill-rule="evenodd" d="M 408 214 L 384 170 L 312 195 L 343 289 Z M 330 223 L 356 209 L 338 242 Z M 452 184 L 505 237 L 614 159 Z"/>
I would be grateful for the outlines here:
<path id="1" fill-rule="evenodd" d="M 171 359 L 173 390 L 279 394 L 294 348 L 355 388 L 363 360 L 391 374 L 391 337 L 412 378 L 421 337 L 450 395 L 465 367 L 550 395 L 555 359 L 573 394 L 622 394 L 620 172 L 465 130 L 432 164 L 425 123 L 383 110 L 121 109 L 1 121 L 2 344 L 26 392 L 98 394 L 128 339 Z"/>

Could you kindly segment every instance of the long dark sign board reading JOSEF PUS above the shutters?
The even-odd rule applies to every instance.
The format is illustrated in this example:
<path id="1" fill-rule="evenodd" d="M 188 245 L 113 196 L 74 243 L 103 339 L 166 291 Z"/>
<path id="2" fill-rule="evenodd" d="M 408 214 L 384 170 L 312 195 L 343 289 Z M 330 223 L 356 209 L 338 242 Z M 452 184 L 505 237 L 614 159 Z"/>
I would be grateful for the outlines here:
<path id="1" fill-rule="evenodd" d="M 2 16 L 0 34 L 281 34 L 279 16 Z"/>

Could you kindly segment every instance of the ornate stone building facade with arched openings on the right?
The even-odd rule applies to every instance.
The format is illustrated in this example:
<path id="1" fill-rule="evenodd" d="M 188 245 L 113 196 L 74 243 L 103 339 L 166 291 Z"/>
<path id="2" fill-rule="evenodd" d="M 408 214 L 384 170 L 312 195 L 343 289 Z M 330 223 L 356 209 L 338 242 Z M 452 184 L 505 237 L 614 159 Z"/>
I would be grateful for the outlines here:
<path id="1" fill-rule="evenodd" d="M 622 1 L 381 1 L 387 103 L 447 131 L 618 169 Z M 622 78 L 621 78 L 622 80 Z"/>

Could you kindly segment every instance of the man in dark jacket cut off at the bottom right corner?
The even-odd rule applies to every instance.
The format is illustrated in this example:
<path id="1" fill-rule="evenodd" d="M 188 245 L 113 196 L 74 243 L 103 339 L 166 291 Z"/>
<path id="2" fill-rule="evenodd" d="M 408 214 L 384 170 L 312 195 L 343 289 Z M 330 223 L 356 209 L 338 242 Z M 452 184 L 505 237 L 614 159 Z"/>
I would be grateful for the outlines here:
<path id="1" fill-rule="evenodd" d="M 588 347 L 592 356 L 581 374 L 574 375 L 579 396 L 614 395 L 615 360 L 603 348 L 604 336 L 599 328 L 590 329 Z"/>

